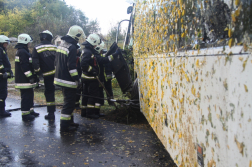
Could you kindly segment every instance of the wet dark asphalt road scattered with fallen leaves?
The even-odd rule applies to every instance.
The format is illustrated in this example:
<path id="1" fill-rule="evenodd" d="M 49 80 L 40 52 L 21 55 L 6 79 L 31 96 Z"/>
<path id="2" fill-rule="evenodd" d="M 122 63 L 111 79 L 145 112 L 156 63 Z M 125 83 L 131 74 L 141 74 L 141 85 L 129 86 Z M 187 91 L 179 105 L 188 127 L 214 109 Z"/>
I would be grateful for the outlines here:
<path id="1" fill-rule="evenodd" d="M 6 109 L 18 108 L 20 100 L 8 98 L 6 104 Z M 0 166 L 173 166 L 152 130 L 86 119 L 75 113 L 78 131 L 60 134 L 60 109 L 55 122 L 44 119 L 45 107 L 35 111 L 40 116 L 33 122 L 23 122 L 21 111 L 0 118 Z"/>

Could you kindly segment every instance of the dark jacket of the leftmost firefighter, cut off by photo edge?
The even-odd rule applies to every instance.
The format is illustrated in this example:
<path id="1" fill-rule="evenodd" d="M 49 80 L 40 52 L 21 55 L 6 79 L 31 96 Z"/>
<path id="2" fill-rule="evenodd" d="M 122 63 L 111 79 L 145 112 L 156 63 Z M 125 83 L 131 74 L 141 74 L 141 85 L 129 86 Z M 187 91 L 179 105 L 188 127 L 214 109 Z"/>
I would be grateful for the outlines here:
<path id="1" fill-rule="evenodd" d="M 5 49 L 0 46 L 0 80 L 3 79 L 2 75 L 5 72 L 10 76 L 11 65 Z"/>

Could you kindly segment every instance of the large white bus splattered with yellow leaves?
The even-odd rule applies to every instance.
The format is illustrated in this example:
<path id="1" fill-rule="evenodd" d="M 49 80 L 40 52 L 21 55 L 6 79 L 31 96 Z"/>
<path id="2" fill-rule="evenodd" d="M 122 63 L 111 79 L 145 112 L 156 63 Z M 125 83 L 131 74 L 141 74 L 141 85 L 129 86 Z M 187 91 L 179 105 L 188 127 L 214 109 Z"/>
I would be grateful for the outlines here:
<path id="1" fill-rule="evenodd" d="M 252 1 L 138 0 L 141 112 L 178 166 L 252 167 Z"/>

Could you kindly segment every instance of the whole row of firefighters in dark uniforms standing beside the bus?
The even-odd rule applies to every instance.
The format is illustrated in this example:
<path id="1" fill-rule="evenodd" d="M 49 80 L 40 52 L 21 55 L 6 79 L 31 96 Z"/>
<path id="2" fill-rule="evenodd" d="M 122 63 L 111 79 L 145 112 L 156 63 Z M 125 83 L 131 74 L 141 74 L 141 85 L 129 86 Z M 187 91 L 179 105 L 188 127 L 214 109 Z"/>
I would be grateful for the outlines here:
<path id="1" fill-rule="evenodd" d="M 33 121 L 39 113 L 34 111 L 34 88 L 43 78 L 47 112 L 45 119 L 55 120 L 55 85 L 61 87 L 64 104 L 61 110 L 60 131 L 75 131 L 79 124 L 74 122 L 73 111 L 79 107 L 81 116 L 98 119 L 100 107 L 104 104 L 103 87 L 113 96 L 111 79 L 111 61 L 119 54 L 104 56 L 105 44 L 99 35 L 93 33 L 87 38 L 80 26 L 70 27 L 61 38 L 59 46 L 53 45 L 53 34 L 45 30 L 39 34 L 41 43 L 33 48 L 29 46 L 33 39 L 28 34 L 20 34 L 15 48 L 15 88 L 20 89 L 21 112 L 23 121 Z M 81 49 L 79 41 L 85 39 Z M 84 40 L 83 40 L 84 41 Z M 7 98 L 7 79 L 13 78 L 11 64 L 7 56 L 10 40 L 0 35 L 0 116 L 9 117 L 5 110 Z M 82 95 L 82 96 L 81 96 Z M 108 96 L 108 95 L 107 95 Z M 80 97 L 81 105 L 79 104 Z M 99 97 L 99 98 L 98 98 Z M 109 101 L 109 104 L 111 102 Z"/>

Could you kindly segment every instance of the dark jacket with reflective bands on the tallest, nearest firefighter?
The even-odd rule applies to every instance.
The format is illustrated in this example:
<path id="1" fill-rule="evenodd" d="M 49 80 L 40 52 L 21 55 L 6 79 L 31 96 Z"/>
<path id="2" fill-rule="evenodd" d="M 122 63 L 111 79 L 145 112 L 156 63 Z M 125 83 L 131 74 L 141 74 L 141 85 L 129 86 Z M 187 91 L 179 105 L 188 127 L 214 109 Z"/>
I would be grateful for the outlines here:
<path id="1" fill-rule="evenodd" d="M 69 37 L 61 38 L 62 42 L 56 50 L 54 84 L 67 88 L 77 88 L 79 80 L 76 67 L 77 42 Z"/>

